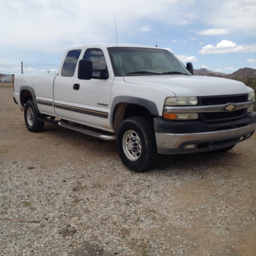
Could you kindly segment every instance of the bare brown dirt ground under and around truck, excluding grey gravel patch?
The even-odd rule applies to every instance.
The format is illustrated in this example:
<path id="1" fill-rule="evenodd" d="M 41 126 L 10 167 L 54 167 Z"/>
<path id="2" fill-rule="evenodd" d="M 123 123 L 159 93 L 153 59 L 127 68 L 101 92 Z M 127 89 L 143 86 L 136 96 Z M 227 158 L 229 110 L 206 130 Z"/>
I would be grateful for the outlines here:
<path id="1" fill-rule="evenodd" d="M 154 187 L 162 209 L 151 212 L 157 216 L 157 226 L 147 225 L 140 230 L 141 236 L 152 237 L 151 241 L 144 242 L 144 247 L 132 243 L 129 234 L 126 234 L 127 242 L 125 234 L 121 236 L 123 244 L 133 250 L 134 255 L 256 254 L 256 134 L 226 154 L 161 155 L 154 170 L 137 174 L 122 165 L 115 142 L 50 124 L 45 124 L 40 133 L 31 133 L 25 127 L 23 112 L 17 108 L 0 109 L 0 163 L 11 165 L 18 160 L 29 160 L 40 165 L 44 172 L 53 172 L 66 162 L 86 168 L 101 160 L 120 166 L 120 172 L 127 173 L 128 180 L 122 182 L 129 184 L 131 191 L 135 191 L 134 177 L 144 182 L 151 180 L 150 186 Z M 120 179 L 117 168 L 115 171 L 108 168 L 106 166 L 99 179 L 99 182 L 104 180 L 106 189 L 108 179 L 116 182 Z M 135 196 L 143 190 L 136 189 Z M 148 205 L 138 203 L 137 207 L 149 211 L 151 204 L 150 201 Z M 143 209 L 138 210 L 142 216 Z M 138 222 L 132 223 L 134 227 L 131 225 L 130 230 L 135 229 Z M 161 250 L 154 241 L 163 245 Z M 110 245 L 111 242 L 106 246 L 108 250 Z M 113 245 L 112 252 L 119 250 L 119 255 L 125 255 L 126 251 L 122 254 L 119 247 Z"/>

